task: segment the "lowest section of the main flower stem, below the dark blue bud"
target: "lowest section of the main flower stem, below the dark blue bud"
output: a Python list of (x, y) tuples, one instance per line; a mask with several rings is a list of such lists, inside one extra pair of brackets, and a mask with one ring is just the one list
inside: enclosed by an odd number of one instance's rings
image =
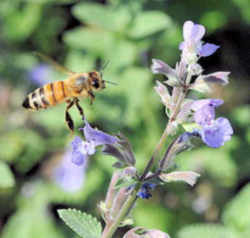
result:
[(120, 223), (123, 221), (123, 219), (126, 217), (128, 212), (130, 211), (131, 207), (134, 205), (134, 202), (137, 198), (136, 194), (140, 189), (140, 184), (137, 184), (133, 191), (131, 192), (130, 196), (127, 198), (126, 202), (122, 206), (122, 209), (118, 213), (118, 215), (115, 217), (115, 219), (110, 222), (109, 224), (106, 224), (104, 231), (102, 233), (101, 238), (111, 238), (117, 228), (119, 227)]

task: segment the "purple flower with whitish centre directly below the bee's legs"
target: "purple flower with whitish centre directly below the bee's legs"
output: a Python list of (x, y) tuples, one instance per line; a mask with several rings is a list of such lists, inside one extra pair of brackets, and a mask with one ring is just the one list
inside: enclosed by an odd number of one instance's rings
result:
[(118, 142), (116, 137), (93, 129), (86, 120), (84, 128), (80, 130), (83, 130), (85, 140), (76, 136), (72, 141), (72, 162), (76, 165), (83, 164), (89, 155), (93, 155), (96, 152), (96, 146)]

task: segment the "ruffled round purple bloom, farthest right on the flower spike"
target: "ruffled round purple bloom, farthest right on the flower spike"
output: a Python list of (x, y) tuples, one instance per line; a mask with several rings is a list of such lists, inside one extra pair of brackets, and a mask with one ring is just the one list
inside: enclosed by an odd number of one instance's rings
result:
[(209, 147), (218, 148), (231, 139), (233, 129), (228, 119), (219, 117), (210, 125), (204, 125), (200, 131), (203, 142)]

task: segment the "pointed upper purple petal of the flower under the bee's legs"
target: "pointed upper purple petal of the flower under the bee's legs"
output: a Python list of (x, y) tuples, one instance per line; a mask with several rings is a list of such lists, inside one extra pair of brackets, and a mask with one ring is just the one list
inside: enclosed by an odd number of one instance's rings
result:
[(88, 142), (94, 142), (95, 146), (114, 144), (118, 141), (115, 136), (93, 129), (86, 120), (85, 127), (83, 129), (80, 128), (80, 130), (83, 130), (86, 140)]

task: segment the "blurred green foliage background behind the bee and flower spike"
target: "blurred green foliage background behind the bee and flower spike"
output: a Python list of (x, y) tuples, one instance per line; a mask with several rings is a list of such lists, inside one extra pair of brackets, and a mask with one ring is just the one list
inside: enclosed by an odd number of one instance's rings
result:
[[(235, 134), (222, 148), (204, 146), (179, 156), (177, 168), (201, 173), (199, 182), (194, 188), (171, 184), (156, 189), (153, 198), (138, 202), (135, 224), (176, 238), (250, 237), (249, 0), (1, 0), (1, 237), (76, 237), (56, 209), (75, 207), (101, 219), (97, 203), (114, 170), (114, 159), (98, 153), (70, 180), (76, 183), (73, 191), (55, 180), (72, 140), (65, 105), (32, 113), (21, 104), (41, 80), (66, 76), (33, 51), (76, 72), (110, 61), (104, 79), (118, 86), (108, 85), (94, 105), (88, 100), (81, 105), (92, 125), (130, 139), (142, 169), (166, 123), (153, 90), (155, 79), (163, 78), (150, 72), (151, 59), (175, 65), (186, 20), (205, 25), (204, 40), (221, 46), (201, 64), (205, 73), (232, 72), (230, 84), (209, 96), (225, 100), (218, 115), (230, 119)], [(81, 126), (77, 111), (71, 114)]]

